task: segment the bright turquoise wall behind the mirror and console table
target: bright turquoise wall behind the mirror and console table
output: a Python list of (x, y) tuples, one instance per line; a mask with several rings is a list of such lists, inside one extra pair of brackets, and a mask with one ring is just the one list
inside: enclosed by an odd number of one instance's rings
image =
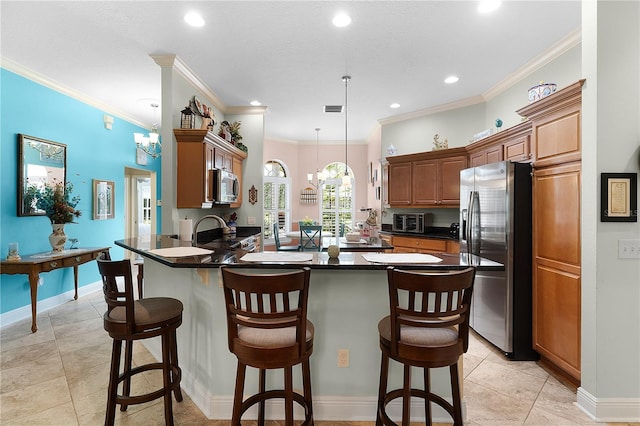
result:
[[(135, 163), (133, 133), (147, 131), (114, 117), (112, 130), (104, 127), (105, 111), (87, 105), (18, 74), (0, 69), (0, 256), (5, 259), (8, 243), (17, 241), (22, 255), (51, 250), (49, 220), (44, 216), (17, 216), (18, 134), (23, 133), (67, 145), (67, 180), (74, 195), (81, 197), (77, 208), (82, 216), (77, 224), (65, 227), (68, 237), (78, 238), (80, 246), (110, 246), (112, 257), (124, 256), (113, 241), (124, 238), (124, 169), (157, 172), (160, 188), (160, 158), (148, 158), (147, 166)], [(113, 114), (109, 114), (113, 115)], [(93, 220), (92, 179), (115, 182), (115, 218)], [(160, 209), (157, 209), (160, 214)], [(158, 218), (158, 226), (161, 223)], [(81, 265), (80, 287), (98, 282), (94, 262)], [(41, 275), (38, 300), (73, 289), (73, 269), (65, 268)], [(30, 305), (26, 275), (0, 275), (0, 313)]]

